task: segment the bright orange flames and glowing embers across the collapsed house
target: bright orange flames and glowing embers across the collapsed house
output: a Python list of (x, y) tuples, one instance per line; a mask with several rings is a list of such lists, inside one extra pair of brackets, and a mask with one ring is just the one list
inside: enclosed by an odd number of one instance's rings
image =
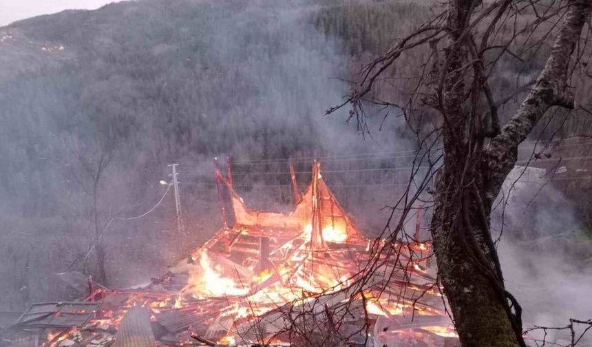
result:
[[(315, 169), (318, 171), (319, 167), (315, 166)], [(429, 253), (430, 244), (416, 241), (405, 244), (401, 241), (364, 238), (336, 202), (324, 181), (320, 180), (317, 171), (313, 174), (317, 185), (311, 185), (306, 190), (308, 193), (299, 197), (297, 207), (291, 213), (247, 209), (242, 198), (229, 185), (235, 209), (234, 227), (225, 225), (214, 238), (195, 250), (189, 261), (184, 260), (167, 273), (166, 277), (154, 282), (158, 286), (146, 287), (152, 292), (125, 293), (129, 296), (120, 304), (118, 311), (101, 311), (90, 323), (95, 324), (95, 328), (82, 328), (81, 331), (96, 335), (97, 330), (100, 330), (98, 334), (108, 334), (107, 330), (118, 329), (129, 308), (143, 304), (149, 308), (150, 319), (159, 323), (172, 324), (175, 319), (171, 317), (176, 318), (177, 315), (182, 319), (187, 314), (195, 315), (196, 319), (200, 319), (199, 327), (195, 328), (204, 328), (200, 334), (204, 331), (206, 334), (215, 332), (208, 338), (204, 336), (204, 339), (226, 346), (235, 345), (238, 337), (240, 344), (257, 342), (250, 341), (253, 337), (244, 333), (261, 322), (264, 322), (261, 330), (270, 330), (266, 336), (256, 338), (264, 339), (266, 344), (276, 339), (281, 343), (284, 336), (273, 335), (273, 330), (282, 331), (286, 328), (286, 318), (282, 316), (286, 312), (305, 313), (302, 315), (303, 319), (313, 315), (333, 322), (343, 320), (348, 326), (359, 322), (387, 322), (390, 325), (390, 330), (386, 324), (383, 328), (374, 330), (380, 331), (376, 336), (368, 334), (372, 339), (382, 338), (382, 335), (385, 338), (403, 336), (405, 339), (423, 339), (433, 337), (434, 334), (456, 337), (450, 324), (427, 327), (415, 324), (393, 328), (390, 322), (405, 324), (408, 320), (399, 317), (445, 317), (439, 306), (432, 306), (430, 301), (427, 301), (428, 304), (419, 301), (423, 296), (426, 300), (431, 299), (431, 302), (441, 301), (434, 300), (441, 294), (429, 286), (430, 266), (425, 252)], [(316, 212), (315, 208), (318, 209)], [(318, 223), (314, 224), (315, 228), (313, 221)], [(313, 229), (315, 242), (312, 242)], [(319, 236), (326, 244), (316, 242)], [(371, 251), (380, 247), (392, 247), (397, 252), (397, 263), (380, 252)], [(421, 256), (418, 257), (416, 253), (419, 251)], [(357, 286), (357, 276), (363, 273), (368, 262), (384, 263), (383, 266), (387, 274), (392, 275), (392, 280), (377, 271), (370, 273), (370, 282)], [(262, 268), (264, 269), (260, 271)], [(184, 281), (187, 272), (189, 280), (179, 291), (179, 286), (184, 284), (173, 280), (181, 273), (179, 278)], [(411, 277), (419, 277), (419, 282), (413, 282)], [(169, 283), (174, 286), (167, 286)], [(413, 298), (418, 297), (421, 291), (425, 292), (414, 301)], [(107, 292), (96, 293), (106, 295)], [(406, 293), (409, 293), (409, 297), (405, 297)], [(284, 310), (286, 307), (289, 309)], [(363, 308), (366, 311), (360, 312)], [(308, 310), (310, 312), (305, 312)], [(364, 320), (365, 316), (367, 320)], [(258, 322), (257, 319), (262, 321)], [(440, 321), (429, 322), (428, 324), (434, 324)], [(96, 328), (97, 324), (102, 327)], [(191, 335), (192, 328), (188, 329)], [(63, 335), (58, 335), (58, 331), (54, 335), (48, 335), (47, 340), (57, 340), (52, 346), (59, 344), (66, 337), (72, 339), (73, 331), (69, 330)], [(198, 339), (198, 330), (193, 333), (195, 335), (191, 336)], [(222, 335), (224, 336), (218, 339)], [(178, 336), (182, 334), (179, 333)], [(160, 346), (160, 342), (157, 344)], [(187, 344), (193, 344), (193, 341), (182, 341), (178, 346)]]

